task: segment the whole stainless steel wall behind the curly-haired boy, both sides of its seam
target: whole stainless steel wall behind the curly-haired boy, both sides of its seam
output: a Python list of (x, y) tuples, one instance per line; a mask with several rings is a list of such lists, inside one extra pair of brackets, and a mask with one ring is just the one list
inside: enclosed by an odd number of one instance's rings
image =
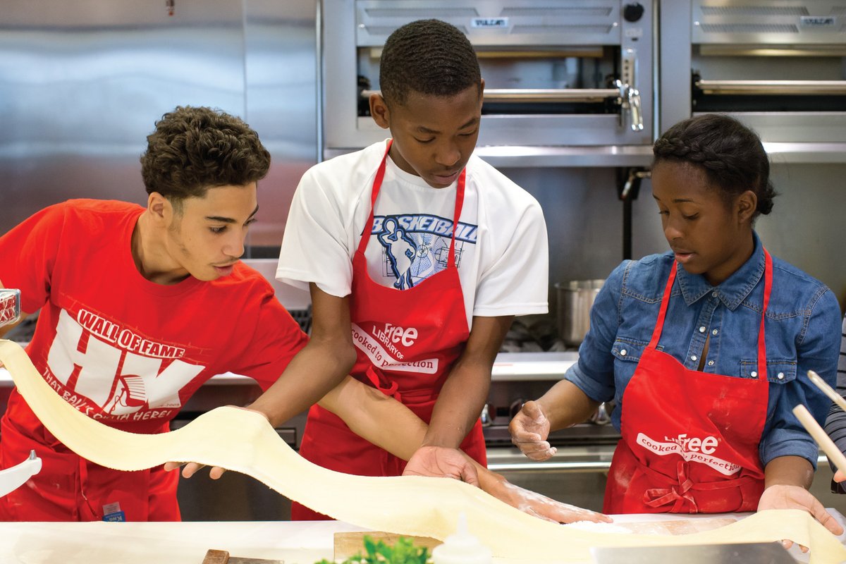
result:
[(0, 233), (58, 201), (143, 204), (139, 156), (162, 114), (217, 107), (272, 167), (249, 245), (277, 247), (317, 161), (316, 0), (12, 0), (0, 23)]

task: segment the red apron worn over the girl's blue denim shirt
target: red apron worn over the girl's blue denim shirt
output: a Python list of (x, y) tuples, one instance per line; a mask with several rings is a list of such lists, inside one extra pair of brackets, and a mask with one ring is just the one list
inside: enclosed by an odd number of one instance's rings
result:
[(611, 463), (603, 512), (757, 509), (764, 490), (758, 446), (769, 396), (764, 320), (772, 288), (772, 258), (766, 249), (764, 255), (764, 303), (753, 378), (688, 370), (656, 350), (676, 277), (673, 262), (651, 341), (623, 393), (622, 440)]

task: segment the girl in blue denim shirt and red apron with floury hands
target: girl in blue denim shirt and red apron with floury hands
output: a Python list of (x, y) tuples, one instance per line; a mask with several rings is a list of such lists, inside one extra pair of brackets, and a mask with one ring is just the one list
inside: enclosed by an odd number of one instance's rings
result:
[(674, 125), (653, 152), (652, 195), (669, 252), (626, 260), (591, 309), (579, 362), (511, 424), (514, 443), (551, 457), (550, 430), (617, 402), (622, 440), (606, 513), (801, 508), (842, 529), (807, 491), (818, 449), (792, 409), (817, 420), (834, 382), (837, 299), (771, 257), (753, 229), (775, 195), (761, 140), (726, 116)]

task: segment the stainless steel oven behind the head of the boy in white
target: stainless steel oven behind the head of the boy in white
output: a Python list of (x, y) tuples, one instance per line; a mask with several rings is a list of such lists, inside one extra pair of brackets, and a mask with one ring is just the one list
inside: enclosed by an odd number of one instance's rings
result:
[(651, 1), (323, 0), (324, 157), (382, 140), (367, 115), (387, 36), (415, 19), (464, 31), (485, 79), (480, 146), (645, 147)]

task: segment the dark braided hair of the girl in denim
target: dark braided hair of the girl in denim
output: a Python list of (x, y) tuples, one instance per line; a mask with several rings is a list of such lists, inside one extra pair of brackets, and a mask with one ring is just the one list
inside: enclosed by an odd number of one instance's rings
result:
[(772, 211), (776, 191), (770, 182), (770, 161), (761, 138), (734, 118), (706, 113), (678, 122), (655, 145), (652, 166), (659, 162), (687, 162), (705, 171), (726, 202), (752, 190), (758, 197), (756, 217)]

